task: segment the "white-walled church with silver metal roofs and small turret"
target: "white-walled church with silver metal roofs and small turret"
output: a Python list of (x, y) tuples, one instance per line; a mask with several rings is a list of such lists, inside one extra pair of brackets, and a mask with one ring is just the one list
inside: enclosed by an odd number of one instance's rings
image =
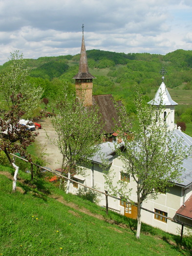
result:
[[(159, 102), (159, 95), (162, 95), (163, 102), (161, 103)], [(192, 138), (183, 133), (180, 128), (177, 128), (174, 124), (174, 106), (177, 105), (177, 103), (171, 98), (165, 86), (164, 77), (154, 99), (148, 103), (156, 106), (160, 104), (164, 105), (161, 119), (162, 122), (166, 121), (168, 130), (173, 131), (173, 140), (182, 137), (183, 147), (190, 147), (192, 145)], [(127, 188), (132, 189), (130, 200), (136, 202), (136, 183), (131, 175), (129, 177), (122, 176), (123, 164), (115, 154), (115, 144), (112, 142), (102, 143), (101, 152), (110, 164), (110, 168), (115, 172), (114, 183), (120, 179), (125, 180), (125, 182), (127, 182)], [(107, 191), (101, 164), (102, 159), (98, 154), (92, 159), (92, 167), (86, 169), (85, 177), (75, 175), (74, 180), (86, 186), (95, 187), (102, 192)], [(71, 183), (70, 192), (76, 194), (79, 187), (81, 186), (76, 182), (74, 182), (74, 184)], [(109, 208), (126, 217), (137, 217), (137, 207), (133, 204), (115, 200), (112, 197), (108, 198)], [(101, 194), (99, 205), (106, 205), (105, 195)], [(158, 227), (166, 232), (178, 234), (178, 230), (181, 230), (182, 226), (165, 217), (192, 225), (192, 156), (183, 161), (183, 171), (180, 181), (175, 182), (173, 187), (170, 187), (166, 193), (159, 194), (156, 199), (147, 199), (144, 201), (142, 207), (153, 212), (141, 210), (142, 222)], [(165, 217), (156, 215), (155, 213)]]

